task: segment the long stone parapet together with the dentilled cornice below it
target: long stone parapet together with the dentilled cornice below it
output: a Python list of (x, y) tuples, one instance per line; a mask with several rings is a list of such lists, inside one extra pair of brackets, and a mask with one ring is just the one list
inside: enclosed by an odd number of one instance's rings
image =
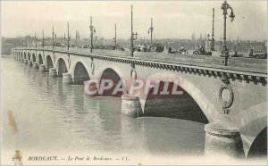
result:
[(130, 63), (151, 68), (159, 68), (170, 71), (182, 71), (194, 74), (202, 74), (213, 77), (227, 77), (229, 79), (242, 79), (254, 81), (255, 83), (267, 83), (267, 61), (264, 59), (253, 59), (244, 57), (230, 57), (228, 65), (224, 65), (224, 57), (201, 56), (196, 54), (163, 54), (135, 52), (130, 57), (128, 51), (95, 49), (90, 53), (88, 49), (65, 47), (23, 47), (13, 50), (25, 51), (47, 51), (77, 56), (88, 56), (90, 58), (103, 59), (105, 61)]

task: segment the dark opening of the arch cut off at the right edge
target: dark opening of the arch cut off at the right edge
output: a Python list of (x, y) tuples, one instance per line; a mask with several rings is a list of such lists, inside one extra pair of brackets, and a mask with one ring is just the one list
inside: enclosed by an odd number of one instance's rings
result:
[(267, 157), (267, 127), (255, 137), (253, 144), (250, 146), (247, 159), (255, 157)]

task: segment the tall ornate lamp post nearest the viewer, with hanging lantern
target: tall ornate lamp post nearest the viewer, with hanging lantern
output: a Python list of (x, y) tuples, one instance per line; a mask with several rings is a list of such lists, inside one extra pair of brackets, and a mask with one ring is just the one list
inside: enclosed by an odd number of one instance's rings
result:
[(222, 4), (222, 11), (223, 11), (223, 56), (225, 56), (225, 66), (227, 66), (228, 61), (228, 48), (226, 44), (226, 16), (228, 14), (228, 9), (230, 9), (230, 21), (232, 22), (235, 18), (235, 15), (233, 13), (233, 9), (230, 7), (230, 4), (228, 4), (226, 1)]

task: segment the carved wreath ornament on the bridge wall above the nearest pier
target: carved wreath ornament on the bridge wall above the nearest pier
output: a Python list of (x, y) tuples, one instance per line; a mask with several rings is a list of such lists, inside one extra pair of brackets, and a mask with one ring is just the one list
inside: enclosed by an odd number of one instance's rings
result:
[[(230, 113), (230, 106), (233, 104), (233, 99), (234, 99), (234, 94), (232, 91), (232, 88), (230, 87), (230, 79), (226, 75), (222, 75), (222, 86), (219, 88), (219, 100), (220, 103), (222, 104), (222, 111), (225, 114)], [(223, 90), (228, 90), (229, 91), (229, 100), (225, 101), (222, 99), (222, 92)]]

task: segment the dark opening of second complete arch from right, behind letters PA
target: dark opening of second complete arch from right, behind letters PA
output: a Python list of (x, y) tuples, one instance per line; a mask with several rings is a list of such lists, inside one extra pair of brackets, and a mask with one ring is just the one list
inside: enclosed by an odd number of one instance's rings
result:
[[(109, 89), (105, 89), (103, 94), (99, 94), (99, 95), (117, 96), (117, 97), (121, 97), (121, 95), (123, 95), (122, 91), (119, 91), (119, 92), (113, 94), (113, 91), (114, 91), (115, 87), (121, 81), (121, 77), (119, 76), (119, 74), (116, 71), (114, 71), (112, 68), (106, 68), (101, 74), (101, 77), (100, 77), (100, 80), (99, 80), (99, 85), (102, 84), (102, 81), (104, 79), (112, 80), (113, 81), (113, 87), (111, 87)], [(120, 88), (126, 89), (126, 85), (124, 84), (124, 82), (122, 82), (122, 85), (121, 85)], [(127, 89), (126, 89), (126, 93), (127, 93)]]

